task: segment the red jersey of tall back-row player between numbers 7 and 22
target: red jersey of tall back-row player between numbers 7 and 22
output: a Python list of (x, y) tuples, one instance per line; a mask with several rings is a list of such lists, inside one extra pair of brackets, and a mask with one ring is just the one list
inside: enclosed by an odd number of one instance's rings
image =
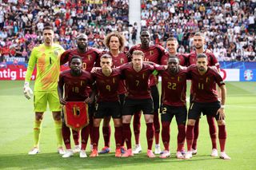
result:
[[(166, 49), (164, 49), (161, 45), (151, 45), (148, 49), (142, 49), (141, 44), (134, 45), (129, 50), (129, 56), (132, 55), (134, 50), (141, 50), (145, 57), (144, 61), (151, 61), (155, 64), (160, 64), (162, 57), (168, 56)], [(154, 77), (151, 75), (150, 77), (150, 86), (158, 84), (158, 77)]]

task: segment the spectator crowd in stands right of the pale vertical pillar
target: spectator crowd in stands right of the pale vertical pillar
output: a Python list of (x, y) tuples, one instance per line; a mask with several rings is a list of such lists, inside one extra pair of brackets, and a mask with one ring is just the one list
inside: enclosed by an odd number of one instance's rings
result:
[(155, 44), (178, 39), (180, 53), (190, 53), (195, 32), (218, 61), (256, 61), (256, 1), (141, 0), (141, 26)]

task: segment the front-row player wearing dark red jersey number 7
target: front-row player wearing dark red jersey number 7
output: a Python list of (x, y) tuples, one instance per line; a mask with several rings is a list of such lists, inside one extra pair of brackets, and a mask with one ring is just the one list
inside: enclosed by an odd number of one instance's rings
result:
[(146, 140), (148, 144), (147, 156), (154, 157), (152, 144), (154, 140), (154, 104), (148, 83), (153, 65), (143, 63), (144, 53), (135, 50), (132, 62), (122, 65), (120, 69), (126, 79), (127, 97), (122, 108), (122, 135), (126, 141), (127, 151), (122, 157), (133, 156), (131, 149), (130, 121), (134, 113), (143, 111), (146, 121)]

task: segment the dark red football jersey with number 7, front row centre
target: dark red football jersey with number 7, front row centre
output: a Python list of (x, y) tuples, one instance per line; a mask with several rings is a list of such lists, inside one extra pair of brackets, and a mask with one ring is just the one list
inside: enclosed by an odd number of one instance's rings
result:
[(132, 63), (120, 67), (126, 79), (127, 97), (130, 99), (151, 98), (149, 79), (154, 71), (153, 65), (143, 64), (142, 69), (136, 72)]

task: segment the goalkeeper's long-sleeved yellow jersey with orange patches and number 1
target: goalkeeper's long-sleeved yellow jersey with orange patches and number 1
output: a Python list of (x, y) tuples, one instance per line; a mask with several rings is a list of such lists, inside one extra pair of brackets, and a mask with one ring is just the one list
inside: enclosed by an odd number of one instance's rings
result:
[(60, 57), (64, 51), (65, 49), (58, 44), (51, 46), (42, 44), (32, 49), (25, 81), (30, 82), (34, 65), (37, 65), (37, 77), (34, 83), (34, 91), (57, 90), (58, 76), (60, 73)]

